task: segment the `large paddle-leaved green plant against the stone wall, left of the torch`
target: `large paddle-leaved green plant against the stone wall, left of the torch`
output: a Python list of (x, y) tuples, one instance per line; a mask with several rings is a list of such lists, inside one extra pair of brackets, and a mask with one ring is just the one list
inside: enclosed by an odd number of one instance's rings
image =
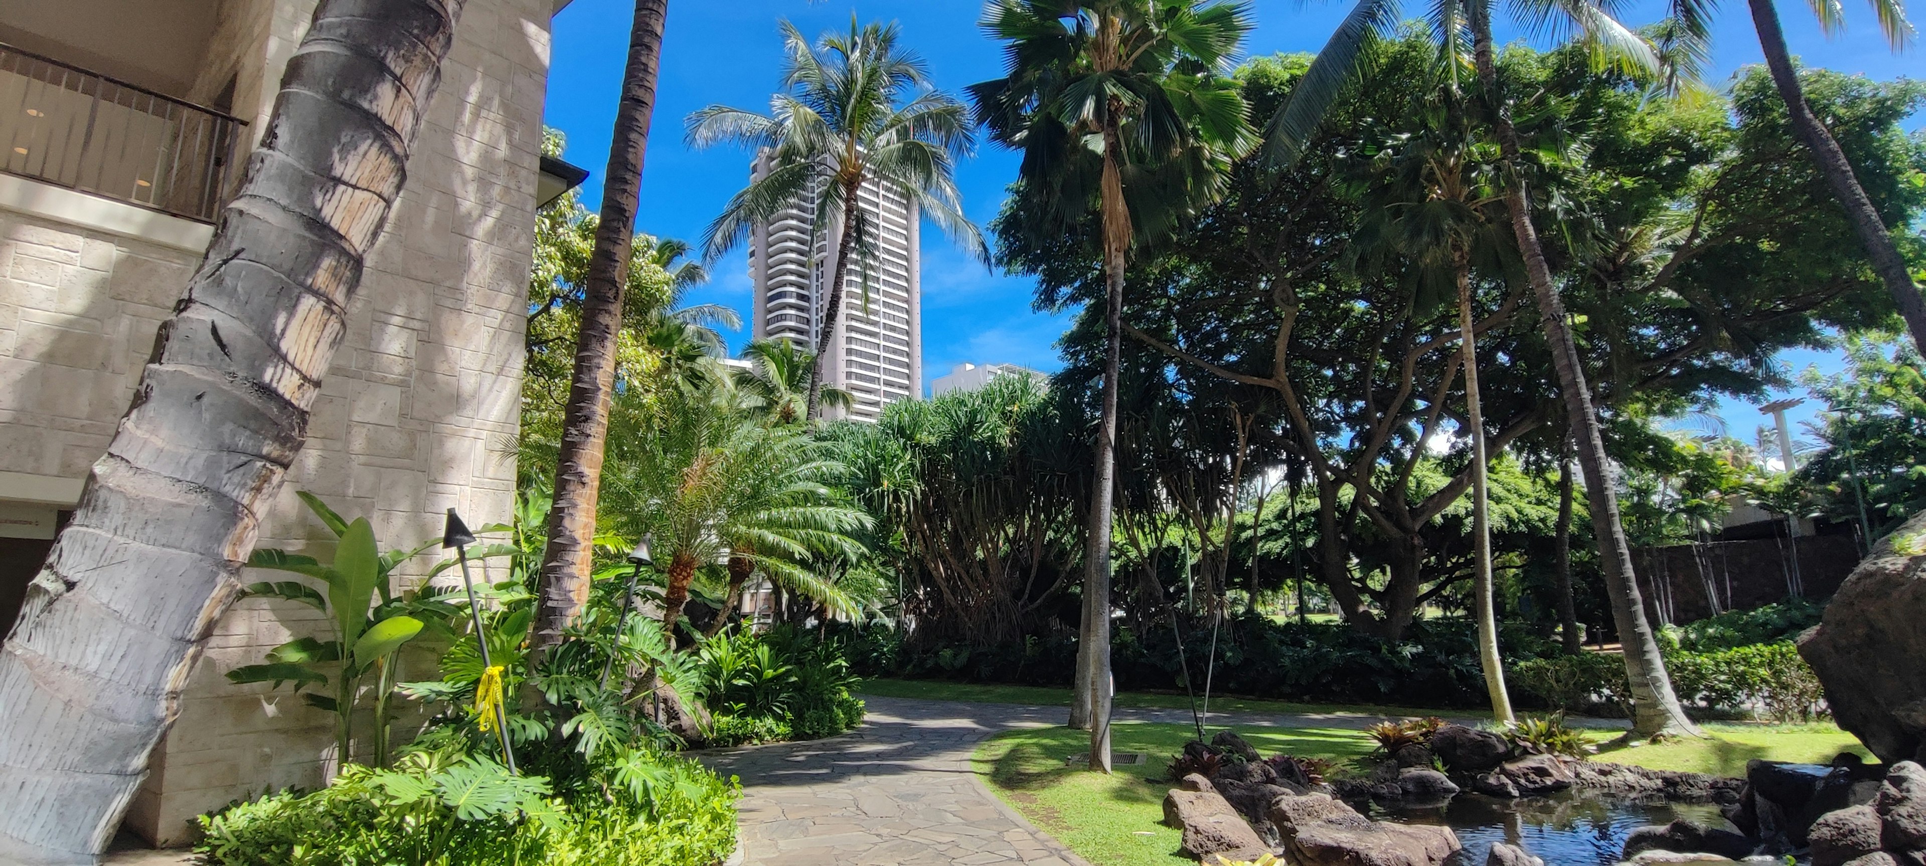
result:
[[(389, 573), (439, 539), (410, 550), (381, 552), (368, 518), (345, 522), (320, 498), (308, 493), (299, 497), (339, 539), (335, 560), (322, 564), (306, 554), (256, 548), (248, 566), (312, 577), (324, 589), (302, 581), (262, 581), (248, 585), (247, 597), (308, 604), (327, 614), (333, 639), (297, 637), (268, 650), (266, 662), (227, 672), (227, 679), (273, 683), (275, 689), (293, 683), (308, 706), (335, 714), (335, 756), (347, 764), (354, 741), (354, 704), (362, 679), (374, 675), (374, 758), (377, 766), (387, 766), (387, 700), (395, 693), (395, 652), (422, 633), (422, 620), (406, 614), (408, 604), (395, 597)], [(333, 677), (327, 670), (335, 672)], [(333, 685), (333, 695), (302, 693), (308, 685)]]

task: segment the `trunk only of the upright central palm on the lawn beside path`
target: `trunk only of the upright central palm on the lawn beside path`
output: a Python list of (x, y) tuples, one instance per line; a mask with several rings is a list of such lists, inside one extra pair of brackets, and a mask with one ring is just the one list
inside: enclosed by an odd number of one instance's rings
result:
[(1090, 535), (1084, 539), (1084, 645), (1090, 647), (1090, 770), (1109, 772), (1109, 522), (1117, 475), (1117, 375), (1123, 337), (1123, 273), (1131, 250), (1131, 212), (1123, 202), (1123, 106), (1109, 100), (1104, 123), (1104, 408), (1090, 481)]

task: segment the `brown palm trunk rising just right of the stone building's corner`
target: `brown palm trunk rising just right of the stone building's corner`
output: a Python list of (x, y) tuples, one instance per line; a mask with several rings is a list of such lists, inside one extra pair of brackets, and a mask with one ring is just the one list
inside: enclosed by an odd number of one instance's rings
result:
[[(609, 441), (609, 402), (614, 398), (616, 335), (622, 331), (622, 294), (628, 285), (636, 206), (641, 200), (641, 158), (649, 146), (655, 114), (655, 79), (663, 60), (663, 23), (668, 0), (636, 0), (628, 35), (622, 100), (614, 114), (614, 142), (603, 175), (601, 223), (589, 252), (576, 337), (576, 368), (568, 381), (562, 443), (555, 466), (555, 504), (549, 510), (549, 547), (541, 556), (535, 620), (530, 625), (530, 666), (541, 662), (562, 631), (589, 602), (595, 558), (595, 502), (601, 497), (603, 446)], [(530, 679), (534, 683), (534, 679)], [(524, 700), (530, 695), (524, 693)]]

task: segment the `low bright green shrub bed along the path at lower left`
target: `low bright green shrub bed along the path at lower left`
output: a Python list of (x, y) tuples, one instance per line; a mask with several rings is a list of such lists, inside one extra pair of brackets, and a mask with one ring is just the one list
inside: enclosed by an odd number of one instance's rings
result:
[(624, 752), (593, 787), (560, 793), (453, 751), (397, 764), (200, 816), (195, 853), (210, 866), (711, 866), (736, 845), (740, 785), (684, 758)]

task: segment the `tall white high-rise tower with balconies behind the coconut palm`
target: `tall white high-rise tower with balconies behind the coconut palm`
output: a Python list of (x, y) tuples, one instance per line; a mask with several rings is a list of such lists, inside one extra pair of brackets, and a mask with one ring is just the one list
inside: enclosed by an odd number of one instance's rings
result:
[[(767, 158), (749, 166), (751, 179), (761, 179), (765, 171)], [(886, 404), (923, 395), (921, 214), (915, 200), (876, 181), (863, 183), (857, 198), (876, 227), (876, 252), (867, 262), (869, 298), (865, 304), (865, 262), (849, 262), (842, 314), (822, 358), (822, 383), (855, 395), (855, 408), (826, 408), (822, 416), (874, 421)], [(828, 214), (817, 225), (811, 250), (813, 219), (813, 202), (799, 200), (749, 231), (755, 337), (788, 337), (811, 352), (822, 335), (842, 214)]]

